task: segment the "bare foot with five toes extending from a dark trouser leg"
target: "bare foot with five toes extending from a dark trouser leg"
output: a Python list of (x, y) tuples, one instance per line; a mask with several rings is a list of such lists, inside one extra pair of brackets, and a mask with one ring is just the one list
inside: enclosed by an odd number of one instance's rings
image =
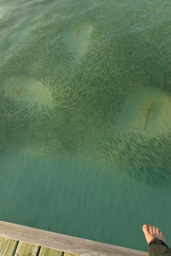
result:
[(144, 224), (142, 226), (142, 230), (144, 232), (147, 243), (149, 243), (153, 238), (158, 238), (166, 244), (166, 240), (162, 234), (162, 231), (160, 231), (158, 227)]

